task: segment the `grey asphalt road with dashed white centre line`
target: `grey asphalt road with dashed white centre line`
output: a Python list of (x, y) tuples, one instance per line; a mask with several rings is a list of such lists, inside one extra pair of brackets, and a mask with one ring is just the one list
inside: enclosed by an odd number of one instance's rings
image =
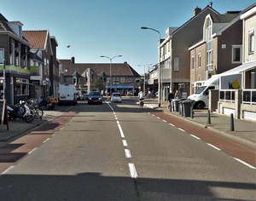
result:
[(6, 145), (14, 155), (0, 163), (6, 168), (0, 200), (256, 198), (255, 169), (232, 156), (233, 144), (223, 147), (218, 139), (218, 149), (197, 136), (200, 130), (139, 108), (136, 99), (80, 101), (61, 110), (51, 123)]

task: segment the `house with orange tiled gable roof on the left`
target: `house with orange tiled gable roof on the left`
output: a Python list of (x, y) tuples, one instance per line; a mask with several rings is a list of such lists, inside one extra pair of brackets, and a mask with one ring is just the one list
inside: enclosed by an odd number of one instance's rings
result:
[(23, 36), (31, 43), (30, 51), (38, 58), (30, 60), (32, 97), (57, 96), (59, 62), (56, 59), (56, 38), (49, 35), (49, 30), (23, 31)]

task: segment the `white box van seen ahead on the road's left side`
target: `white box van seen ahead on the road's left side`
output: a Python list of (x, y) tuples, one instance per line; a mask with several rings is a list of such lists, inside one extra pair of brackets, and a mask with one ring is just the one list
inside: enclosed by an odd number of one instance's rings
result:
[(70, 104), (76, 106), (78, 104), (77, 91), (74, 84), (59, 84), (58, 102), (59, 105)]

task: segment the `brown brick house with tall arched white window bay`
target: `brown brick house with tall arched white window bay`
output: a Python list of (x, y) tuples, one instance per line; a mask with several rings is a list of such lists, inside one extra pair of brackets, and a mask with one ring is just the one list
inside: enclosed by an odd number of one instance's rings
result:
[(218, 17), (207, 14), (202, 32), (201, 41), (189, 47), (191, 94), (212, 75), (242, 63), (242, 21), (239, 12), (219, 14)]

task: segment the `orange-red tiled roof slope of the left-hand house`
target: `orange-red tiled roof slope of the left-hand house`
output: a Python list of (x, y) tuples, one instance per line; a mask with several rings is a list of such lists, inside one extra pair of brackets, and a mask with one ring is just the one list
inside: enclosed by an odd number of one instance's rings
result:
[(23, 37), (26, 37), (29, 43), (32, 45), (32, 49), (45, 49), (46, 41), (49, 31), (22, 31)]

